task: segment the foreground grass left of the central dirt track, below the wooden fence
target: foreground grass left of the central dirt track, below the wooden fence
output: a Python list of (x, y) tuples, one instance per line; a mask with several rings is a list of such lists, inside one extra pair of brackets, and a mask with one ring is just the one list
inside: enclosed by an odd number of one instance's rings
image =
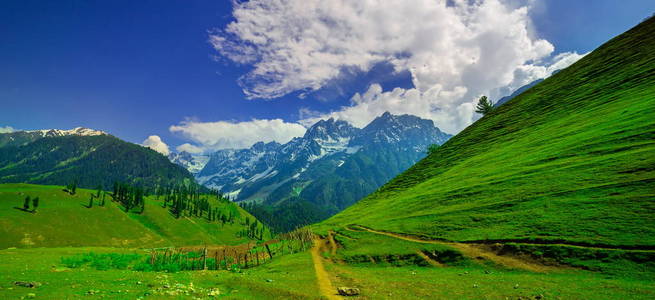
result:
[[(255, 269), (230, 271), (137, 272), (131, 269), (97, 270), (87, 264), (67, 268), (61, 257), (145, 255), (117, 248), (48, 248), (0, 250), (0, 299), (18, 299), (28, 293), (44, 299), (109, 298), (207, 299), (212, 289), (222, 299), (317, 299), (311, 284), (314, 272), (308, 253), (285, 255)], [(293, 270), (293, 272), (289, 272)], [(14, 281), (37, 281), (30, 289)], [(164, 286), (168, 286), (165, 288)], [(193, 286), (193, 290), (189, 287)], [(92, 295), (90, 295), (90, 291)], [(169, 294), (170, 293), (170, 294)]]

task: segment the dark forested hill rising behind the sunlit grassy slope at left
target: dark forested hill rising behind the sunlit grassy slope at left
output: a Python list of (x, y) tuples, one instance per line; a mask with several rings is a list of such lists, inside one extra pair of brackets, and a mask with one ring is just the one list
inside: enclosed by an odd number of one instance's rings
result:
[(111, 135), (38, 133), (0, 134), (1, 140), (21, 141), (0, 147), (0, 183), (66, 185), (77, 180), (80, 187), (109, 188), (116, 181), (147, 187), (193, 182), (187, 170), (165, 156)]

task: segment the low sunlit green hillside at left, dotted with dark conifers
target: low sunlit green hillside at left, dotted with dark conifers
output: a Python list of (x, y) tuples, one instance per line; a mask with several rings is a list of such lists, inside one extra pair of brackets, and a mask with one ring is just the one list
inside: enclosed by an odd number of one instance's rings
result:
[[(9, 247), (158, 247), (247, 242), (238, 232), (246, 228), (245, 217), (253, 217), (234, 203), (212, 200), (212, 207), (227, 214), (234, 224), (208, 222), (206, 218), (176, 219), (162, 201), (146, 199), (143, 214), (125, 213), (106, 197), (104, 207), (87, 208), (90, 193), (78, 189), (69, 195), (61, 186), (0, 184), (0, 249)], [(22, 211), (26, 196), (39, 197), (36, 213)], [(96, 200), (97, 203), (97, 200)]]

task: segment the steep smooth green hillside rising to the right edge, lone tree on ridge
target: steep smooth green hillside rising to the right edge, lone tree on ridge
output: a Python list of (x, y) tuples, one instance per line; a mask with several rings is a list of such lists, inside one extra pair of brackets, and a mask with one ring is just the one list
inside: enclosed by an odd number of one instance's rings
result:
[(655, 246), (655, 18), (316, 228)]

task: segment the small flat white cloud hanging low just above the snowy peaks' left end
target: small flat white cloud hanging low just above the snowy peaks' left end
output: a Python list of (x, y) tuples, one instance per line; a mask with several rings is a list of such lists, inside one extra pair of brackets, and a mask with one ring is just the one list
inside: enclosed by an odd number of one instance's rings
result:
[(305, 134), (305, 127), (298, 123), (287, 123), (281, 119), (252, 120), (248, 122), (197, 122), (184, 121), (169, 129), (192, 140), (196, 147), (205, 152), (218, 149), (248, 148), (254, 143), (286, 143), (294, 137)]

